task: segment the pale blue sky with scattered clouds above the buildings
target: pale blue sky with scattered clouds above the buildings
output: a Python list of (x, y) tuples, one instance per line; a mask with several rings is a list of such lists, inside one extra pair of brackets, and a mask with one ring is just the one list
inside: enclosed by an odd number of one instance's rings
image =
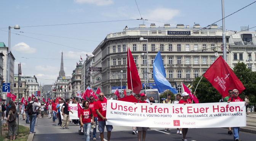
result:
[[(136, 5), (138, 4), (138, 8)], [(22, 75), (38, 78), (39, 83), (53, 84), (61, 67), (71, 76), (86, 54), (104, 40), (109, 33), (139, 27), (142, 20), (150, 27), (170, 24), (201, 27), (222, 19), (221, 0), (7, 0), (1, 1), (0, 42), (8, 46), (8, 27), (11, 28), (11, 52), (15, 57), (14, 73), (21, 63)], [(224, 0), (225, 16), (241, 9), (253, 0)], [(225, 19), (227, 30), (240, 31), (240, 27), (255, 26), (253, 16), (256, 3)], [(3, 12), (4, 11), (4, 12)], [(123, 21), (117, 21), (123, 20)], [(115, 22), (107, 22), (115, 21)], [(79, 24), (80, 23), (80, 24)], [(83, 24), (81, 24), (83, 23)], [(69, 25), (61, 25), (69, 24)], [(222, 21), (216, 23), (222, 26)], [(51, 26), (45, 26), (51, 25)], [(256, 28), (250, 29), (255, 31)], [(19, 35), (18, 35), (19, 34)]]

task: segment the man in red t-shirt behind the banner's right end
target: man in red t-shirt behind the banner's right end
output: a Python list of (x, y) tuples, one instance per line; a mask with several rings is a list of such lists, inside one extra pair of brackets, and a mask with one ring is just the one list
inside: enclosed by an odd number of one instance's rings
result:
[[(237, 89), (233, 90), (233, 96), (229, 98), (229, 100), (227, 100), (227, 103), (229, 102), (243, 102), (242, 97), (238, 96), (239, 92)], [(247, 103), (245, 102), (245, 106), (247, 105)], [(240, 131), (240, 127), (233, 127), (233, 131), (234, 131), (234, 141), (239, 141), (239, 136), (238, 133)]]

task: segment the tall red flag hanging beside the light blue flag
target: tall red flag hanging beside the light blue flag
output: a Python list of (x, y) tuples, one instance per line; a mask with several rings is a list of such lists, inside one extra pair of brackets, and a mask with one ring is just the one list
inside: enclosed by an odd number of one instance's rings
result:
[[(133, 55), (131, 55), (131, 51), (128, 47), (127, 50), (127, 84), (128, 84), (128, 89), (133, 89), (133, 93), (139, 94), (141, 91), (141, 80), (139, 78), (139, 73), (136, 67), (136, 64), (134, 63), (133, 60)], [(122, 87), (122, 86), (121, 86)]]

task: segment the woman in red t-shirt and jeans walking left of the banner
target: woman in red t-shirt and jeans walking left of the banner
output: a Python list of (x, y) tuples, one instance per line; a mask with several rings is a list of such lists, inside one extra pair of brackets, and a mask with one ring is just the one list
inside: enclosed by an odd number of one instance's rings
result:
[(93, 113), (91, 112), (91, 108), (89, 108), (88, 101), (83, 102), (83, 107), (85, 108), (83, 108), (80, 112), (80, 123), (83, 127), (83, 133), (85, 134), (85, 141), (90, 141), (91, 124), (94, 123), (94, 121), (91, 121), (91, 119), (94, 119), (94, 117)]

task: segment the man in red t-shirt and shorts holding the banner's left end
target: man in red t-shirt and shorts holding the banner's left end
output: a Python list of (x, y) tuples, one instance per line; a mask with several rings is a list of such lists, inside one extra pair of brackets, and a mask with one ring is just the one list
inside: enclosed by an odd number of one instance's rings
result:
[(107, 110), (107, 99), (104, 99), (103, 92), (99, 93), (99, 100), (96, 102), (94, 109), (96, 110), (96, 113), (98, 114), (98, 121), (99, 121), (99, 132), (101, 141), (104, 140), (104, 128), (106, 126), (107, 129), (107, 141), (110, 140), (111, 131), (113, 129), (112, 125), (106, 125), (106, 110)]

